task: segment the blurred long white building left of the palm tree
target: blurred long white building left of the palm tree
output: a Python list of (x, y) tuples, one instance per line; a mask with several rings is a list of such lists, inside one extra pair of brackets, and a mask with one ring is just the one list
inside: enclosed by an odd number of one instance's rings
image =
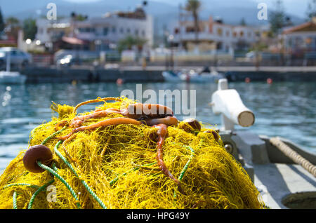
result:
[(145, 47), (153, 43), (152, 17), (139, 6), (131, 12), (105, 13), (103, 17), (75, 20), (37, 20), (36, 38), (59, 48), (108, 50), (126, 36), (145, 39)]

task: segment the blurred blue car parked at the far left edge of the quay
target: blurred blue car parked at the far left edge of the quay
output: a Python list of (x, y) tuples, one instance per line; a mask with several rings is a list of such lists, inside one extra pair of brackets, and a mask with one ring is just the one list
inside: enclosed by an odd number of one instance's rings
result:
[(1, 47), (0, 48), (0, 68), (6, 68), (6, 58), (10, 53), (11, 66), (27, 67), (32, 63), (32, 55), (14, 47)]

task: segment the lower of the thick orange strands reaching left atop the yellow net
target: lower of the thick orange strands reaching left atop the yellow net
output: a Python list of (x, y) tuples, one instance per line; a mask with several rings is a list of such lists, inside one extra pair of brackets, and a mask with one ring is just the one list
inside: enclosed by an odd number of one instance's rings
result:
[(74, 133), (78, 133), (84, 130), (93, 130), (100, 127), (106, 127), (106, 126), (116, 126), (121, 124), (132, 124), (139, 126), (141, 123), (140, 121), (136, 121), (135, 119), (129, 119), (129, 118), (113, 118), (113, 119), (105, 119), (103, 121), (99, 121), (97, 123), (91, 124), (90, 126), (81, 126), (79, 128), (74, 128), (71, 133), (68, 135), (58, 137), (58, 140), (67, 140), (70, 136), (72, 136)]

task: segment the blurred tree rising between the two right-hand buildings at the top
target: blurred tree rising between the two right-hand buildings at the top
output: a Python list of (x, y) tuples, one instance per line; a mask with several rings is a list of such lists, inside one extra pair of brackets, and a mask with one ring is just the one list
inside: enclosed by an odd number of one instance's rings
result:
[(280, 30), (285, 25), (285, 18), (283, 2), (277, 0), (275, 11), (270, 13), (270, 29), (272, 34), (279, 34)]

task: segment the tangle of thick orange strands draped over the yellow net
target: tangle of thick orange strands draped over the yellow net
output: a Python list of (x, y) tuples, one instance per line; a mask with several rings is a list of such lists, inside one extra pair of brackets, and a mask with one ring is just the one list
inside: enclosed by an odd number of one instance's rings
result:
[[(98, 102), (102, 100), (117, 100), (117, 99), (115, 97), (107, 97), (104, 99), (82, 102), (81, 104), (78, 104), (74, 108), (74, 112), (76, 112), (77, 108), (83, 104)], [(120, 114), (123, 117), (105, 119), (103, 121), (99, 121), (97, 123), (93, 123), (88, 126), (83, 126), (84, 122), (89, 119), (103, 118), (103, 117), (107, 117), (109, 114)], [(189, 126), (192, 126), (192, 128), (196, 128), (197, 121), (195, 121), (194, 123), (195, 125), (192, 125), (192, 120), (190, 122), (187, 122)], [(62, 123), (59, 123), (58, 125), (65, 125), (65, 124), (67, 123), (62, 122)], [(155, 132), (155, 135), (157, 136), (155, 140), (157, 141), (157, 156), (156, 157), (157, 157), (157, 163), (159, 165), (159, 168), (160, 170), (162, 170), (162, 173), (164, 173), (164, 175), (166, 175), (167, 177), (171, 178), (171, 180), (176, 182), (180, 193), (185, 194), (180, 187), (180, 181), (177, 180), (175, 177), (173, 177), (169, 169), (166, 167), (166, 164), (164, 163), (164, 158), (163, 158), (162, 147), (164, 144), (164, 140), (168, 136), (168, 126), (178, 126), (178, 119), (175, 116), (173, 116), (173, 111), (169, 107), (166, 107), (161, 104), (136, 103), (136, 104), (129, 104), (129, 106), (126, 107), (125, 109), (115, 109), (115, 108), (110, 108), (110, 109), (105, 109), (105, 110), (98, 109), (91, 114), (74, 117), (74, 119), (72, 119), (72, 121), (70, 121), (69, 123), (69, 127), (73, 128), (72, 131), (67, 135), (58, 137), (58, 140), (65, 141), (68, 138), (70, 138), (72, 135), (80, 131), (94, 130), (100, 127), (117, 126), (121, 124), (131, 124), (131, 125), (136, 125), (136, 126), (145, 124), (147, 126), (152, 126), (152, 128), (157, 129), (157, 131)], [(36, 149), (30, 148), (27, 151), (34, 152), (34, 150)], [(47, 151), (47, 149), (45, 151)], [(38, 155), (35, 154), (34, 156), (38, 156)], [(32, 160), (30, 161), (32, 165), (35, 165), (34, 160), (36, 160), (36, 157), (32, 158)], [(25, 162), (27, 163), (27, 159)]]

